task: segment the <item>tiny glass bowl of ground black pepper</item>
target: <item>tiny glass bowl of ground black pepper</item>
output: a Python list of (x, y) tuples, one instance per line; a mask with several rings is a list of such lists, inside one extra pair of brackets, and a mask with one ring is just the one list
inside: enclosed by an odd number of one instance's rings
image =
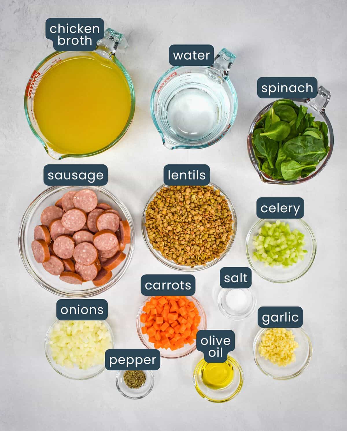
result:
[(116, 386), (123, 397), (139, 400), (151, 392), (154, 386), (154, 376), (151, 371), (118, 371)]

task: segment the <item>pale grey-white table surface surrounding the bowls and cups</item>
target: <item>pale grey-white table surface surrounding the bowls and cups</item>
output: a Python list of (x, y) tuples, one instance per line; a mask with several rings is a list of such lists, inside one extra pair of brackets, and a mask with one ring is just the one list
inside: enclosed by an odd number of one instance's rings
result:
[[(8, 1), (1, 7), (1, 300), (0, 429), (12, 430), (342, 430), (346, 429), (346, 12), (344, 1)], [(163, 359), (155, 387), (140, 401), (126, 400), (115, 386), (115, 372), (72, 381), (51, 369), (44, 336), (55, 318), (58, 297), (30, 278), (17, 246), (19, 222), (31, 200), (46, 186), (50, 159), (25, 119), (23, 95), (32, 70), (53, 51), (44, 36), (49, 17), (101, 17), (105, 26), (126, 34), (129, 49), (119, 56), (136, 90), (136, 112), (116, 147), (81, 163), (106, 163), (108, 190), (129, 208), (136, 223), (136, 249), (119, 284), (101, 295), (117, 347), (142, 347), (136, 312), (143, 301), (141, 275), (169, 273), (147, 250), (141, 214), (162, 183), (167, 163), (208, 163), (211, 181), (230, 196), (238, 231), (225, 259), (197, 272), (196, 297), (208, 328), (236, 333), (233, 356), (243, 367), (240, 394), (229, 403), (208, 403), (196, 393), (192, 370), (199, 352)], [(158, 77), (170, 66), (171, 44), (212, 44), (237, 54), (230, 77), (239, 110), (232, 130), (218, 144), (199, 151), (169, 151), (161, 144), (150, 116), (149, 98)], [(327, 114), (335, 148), (328, 166), (302, 185), (263, 184), (246, 150), (249, 124), (266, 100), (256, 94), (260, 76), (315, 76), (331, 91)], [(63, 163), (76, 163), (76, 159)], [(258, 306), (299, 305), (311, 336), (313, 356), (298, 378), (275, 381), (256, 367), (252, 341), (256, 313), (233, 323), (218, 310), (216, 291), (222, 266), (246, 266), (244, 241), (256, 220), (261, 196), (300, 196), (305, 220), (318, 250), (309, 272), (292, 283), (271, 284), (253, 274)]]

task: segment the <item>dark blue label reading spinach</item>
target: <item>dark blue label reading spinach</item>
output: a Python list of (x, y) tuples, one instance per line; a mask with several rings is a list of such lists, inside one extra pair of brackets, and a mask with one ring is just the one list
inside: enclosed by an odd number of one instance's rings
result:
[(313, 77), (262, 77), (257, 93), (262, 99), (306, 99), (317, 96), (318, 82)]

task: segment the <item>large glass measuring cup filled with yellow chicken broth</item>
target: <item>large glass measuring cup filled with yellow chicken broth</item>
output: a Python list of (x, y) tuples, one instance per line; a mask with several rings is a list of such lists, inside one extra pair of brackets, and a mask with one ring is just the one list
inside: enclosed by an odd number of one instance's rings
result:
[(108, 28), (94, 51), (56, 51), (32, 73), (25, 115), (54, 159), (101, 153), (125, 134), (135, 91), (115, 53), (127, 46), (123, 34)]

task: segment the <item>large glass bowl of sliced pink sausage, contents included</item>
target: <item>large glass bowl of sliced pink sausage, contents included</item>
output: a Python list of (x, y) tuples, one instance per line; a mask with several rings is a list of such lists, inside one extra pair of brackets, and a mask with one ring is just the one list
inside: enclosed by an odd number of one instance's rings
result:
[(26, 209), (19, 252), (32, 278), (63, 297), (91, 297), (129, 266), (135, 229), (126, 206), (103, 187), (55, 186)]

